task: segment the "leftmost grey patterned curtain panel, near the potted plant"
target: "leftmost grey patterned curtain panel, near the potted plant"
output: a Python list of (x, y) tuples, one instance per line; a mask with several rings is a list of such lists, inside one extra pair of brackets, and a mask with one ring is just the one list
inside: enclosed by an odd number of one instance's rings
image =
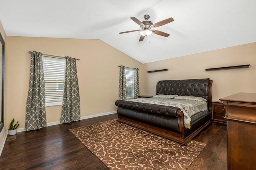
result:
[(26, 104), (25, 131), (46, 127), (45, 88), (42, 54), (31, 53), (30, 81)]

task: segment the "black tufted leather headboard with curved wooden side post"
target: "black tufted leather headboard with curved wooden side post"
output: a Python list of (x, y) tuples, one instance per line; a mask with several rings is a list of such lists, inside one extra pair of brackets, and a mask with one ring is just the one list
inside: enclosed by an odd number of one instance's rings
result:
[(156, 84), (156, 94), (174, 94), (182, 96), (197, 96), (207, 100), (208, 111), (212, 111), (212, 80), (161, 80)]

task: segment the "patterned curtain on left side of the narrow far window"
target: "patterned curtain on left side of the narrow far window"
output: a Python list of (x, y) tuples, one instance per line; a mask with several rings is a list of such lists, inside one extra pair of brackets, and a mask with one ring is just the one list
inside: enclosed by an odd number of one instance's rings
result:
[(120, 66), (119, 72), (119, 100), (126, 100), (126, 78), (125, 78), (125, 66)]

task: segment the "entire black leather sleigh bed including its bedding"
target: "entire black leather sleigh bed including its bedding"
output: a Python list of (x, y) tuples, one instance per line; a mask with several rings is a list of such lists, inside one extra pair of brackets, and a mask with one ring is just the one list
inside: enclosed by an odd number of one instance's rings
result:
[(161, 80), (152, 98), (117, 100), (118, 121), (186, 145), (212, 122), (211, 89), (210, 78)]

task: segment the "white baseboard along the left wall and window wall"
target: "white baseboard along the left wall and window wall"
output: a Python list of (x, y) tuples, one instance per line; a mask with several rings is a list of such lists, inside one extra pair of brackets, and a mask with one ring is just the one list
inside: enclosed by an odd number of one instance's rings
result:
[[(99, 117), (99, 116), (104, 116), (104, 115), (111, 115), (116, 113), (116, 111), (110, 111), (110, 112), (106, 112), (106, 113), (100, 113), (100, 114), (96, 114), (96, 115), (90, 115), (90, 116), (83, 116), (80, 118), (80, 120), (84, 120), (84, 119), (90, 119), (93, 117)], [(59, 125), (60, 121), (55, 121), (55, 122), (51, 122), (51, 123), (47, 123), (46, 126), (53, 126), (53, 125)], [(19, 128), (17, 129), (17, 133), (18, 132), (24, 132), (25, 128)], [(8, 131), (6, 131), (5, 135), (4, 135), (4, 139), (1, 141), (1, 145), (0, 145), (0, 156), (2, 153), (2, 150), (4, 149), (4, 143), (6, 141), (7, 135), (9, 135)]]

